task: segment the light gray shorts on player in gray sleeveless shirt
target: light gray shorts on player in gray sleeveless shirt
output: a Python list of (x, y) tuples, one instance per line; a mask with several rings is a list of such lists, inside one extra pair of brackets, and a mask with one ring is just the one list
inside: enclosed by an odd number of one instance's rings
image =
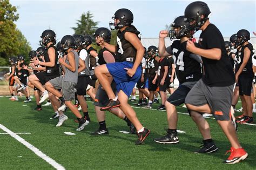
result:
[(75, 99), (75, 88), (76, 83), (64, 81), (63, 77), (56, 77), (49, 81), (55, 89), (62, 89), (62, 96), (65, 101), (70, 101)]

